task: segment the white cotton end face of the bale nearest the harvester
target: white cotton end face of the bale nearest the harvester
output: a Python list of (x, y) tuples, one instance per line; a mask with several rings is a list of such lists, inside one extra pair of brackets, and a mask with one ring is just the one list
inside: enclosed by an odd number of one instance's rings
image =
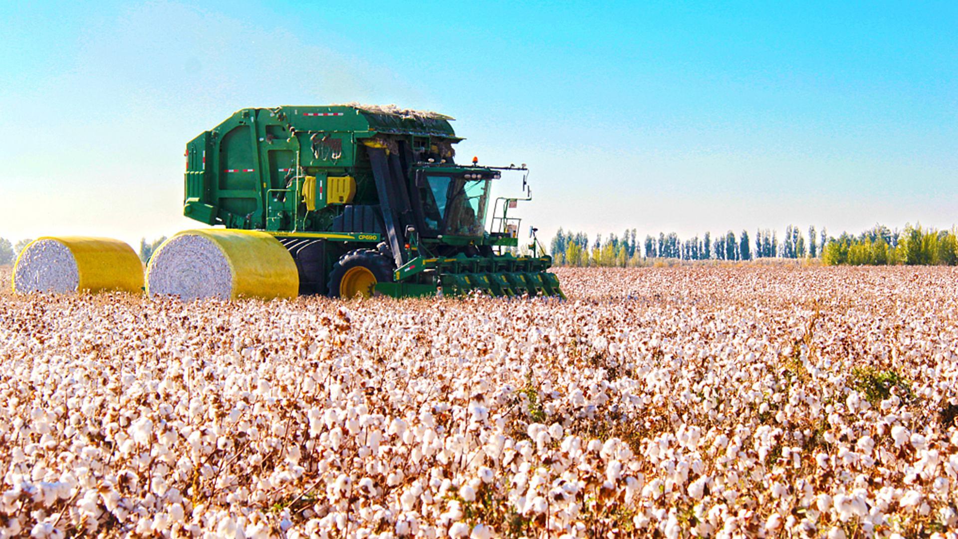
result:
[(233, 294), (233, 271), (216, 242), (197, 234), (180, 234), (150, 259), (147, 290), (150, 296), (174, 295), (184, 301), (226, 300)]

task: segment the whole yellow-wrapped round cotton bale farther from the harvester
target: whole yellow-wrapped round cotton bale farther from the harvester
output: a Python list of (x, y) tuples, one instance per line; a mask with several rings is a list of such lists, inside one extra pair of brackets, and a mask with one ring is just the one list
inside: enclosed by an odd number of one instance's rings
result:
[(20, 251), (14, 293), (143, 292), (143, 263), (111, 238), (45, 236)]

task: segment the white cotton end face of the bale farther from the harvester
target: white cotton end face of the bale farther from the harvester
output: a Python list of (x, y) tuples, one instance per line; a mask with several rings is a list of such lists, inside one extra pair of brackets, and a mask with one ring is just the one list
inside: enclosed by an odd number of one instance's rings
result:
[(15, 293), (71, 293), (80, 287), (80, 269), (70, 247), (57, 240), (26, 246), (13, 269)]

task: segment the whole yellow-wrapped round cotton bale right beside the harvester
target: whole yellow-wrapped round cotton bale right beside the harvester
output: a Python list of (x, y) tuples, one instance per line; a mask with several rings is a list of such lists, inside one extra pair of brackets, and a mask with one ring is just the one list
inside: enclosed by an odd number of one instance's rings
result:
[(295, 297), (299, 273), (285, 246), (253, 230), (185, 230), (149, 259), (147, 293), (185, 301)]

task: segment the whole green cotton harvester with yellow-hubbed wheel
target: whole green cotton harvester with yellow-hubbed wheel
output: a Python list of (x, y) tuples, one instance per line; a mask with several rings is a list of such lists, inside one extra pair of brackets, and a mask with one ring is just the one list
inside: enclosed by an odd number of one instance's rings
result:
[(275, 237), (302, 294), (561, 295), (535, 240), (533, 256), (510, 252), (516, 199), (490, 208), (490, 184), (525, 167), (456, 164), (449, 120), (378, 106), (241, 109), (187, 144), (184, 214)]

